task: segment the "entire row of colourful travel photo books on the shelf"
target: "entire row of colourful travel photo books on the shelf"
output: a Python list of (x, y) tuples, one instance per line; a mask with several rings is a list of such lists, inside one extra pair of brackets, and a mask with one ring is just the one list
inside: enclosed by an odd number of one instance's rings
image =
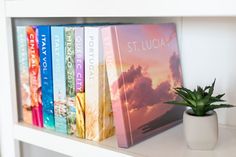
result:
[[(174, 24), (17, 26), (23, 120), (129, 147), (182, 120)], [(114, 122), (113, 123), (113, 114)]]

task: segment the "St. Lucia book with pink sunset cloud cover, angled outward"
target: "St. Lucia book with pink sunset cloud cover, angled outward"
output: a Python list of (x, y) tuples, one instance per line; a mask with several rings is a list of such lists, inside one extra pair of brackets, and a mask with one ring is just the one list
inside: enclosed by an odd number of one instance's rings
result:
[(175, 24), (102, 28), (119, 147), (129, 147), (182, 122), (182, 73)]

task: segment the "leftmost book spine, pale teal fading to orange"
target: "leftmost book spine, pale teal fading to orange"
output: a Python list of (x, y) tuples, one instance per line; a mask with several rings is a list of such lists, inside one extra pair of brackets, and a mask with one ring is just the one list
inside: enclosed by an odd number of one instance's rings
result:
[(16, 32), (23, 121), (32, 124), (26, 27), (18, 26)]

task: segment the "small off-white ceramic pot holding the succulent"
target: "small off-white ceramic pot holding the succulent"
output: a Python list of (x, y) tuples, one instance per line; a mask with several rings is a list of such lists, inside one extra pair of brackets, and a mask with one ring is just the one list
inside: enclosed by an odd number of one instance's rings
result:
[(206, 116), (194, 116), (192, 110), (184, 112), (183, 123), (186, 142), (191, 149), (211, 150), (218, 141), (218, 119), (215, 111)]

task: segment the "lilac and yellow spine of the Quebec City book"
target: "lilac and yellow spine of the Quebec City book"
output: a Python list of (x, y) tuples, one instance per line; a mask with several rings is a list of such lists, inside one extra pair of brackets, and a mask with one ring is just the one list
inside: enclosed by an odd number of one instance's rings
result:
[(75, 28), (76, 136), (85, 138), (84, 28)]

